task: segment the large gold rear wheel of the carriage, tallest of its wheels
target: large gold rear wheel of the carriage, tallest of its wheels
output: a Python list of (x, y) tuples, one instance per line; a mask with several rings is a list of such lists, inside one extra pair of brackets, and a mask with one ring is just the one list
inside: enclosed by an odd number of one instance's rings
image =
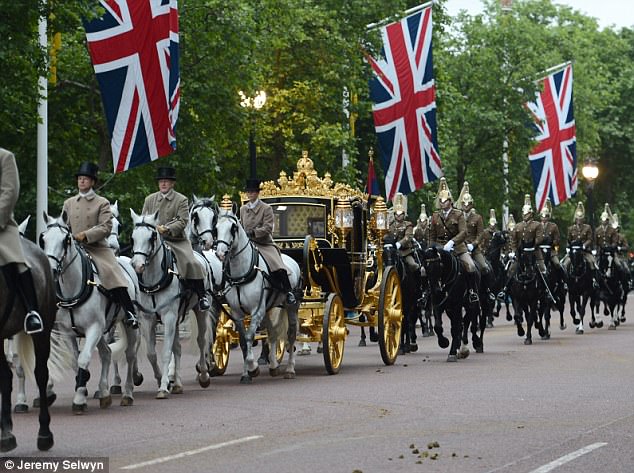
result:
[(383, 271), (379, 295), (379, 348), (386, 365), (393, 365), (398, 356), (403, 322), (401, 282), (393, 266)]

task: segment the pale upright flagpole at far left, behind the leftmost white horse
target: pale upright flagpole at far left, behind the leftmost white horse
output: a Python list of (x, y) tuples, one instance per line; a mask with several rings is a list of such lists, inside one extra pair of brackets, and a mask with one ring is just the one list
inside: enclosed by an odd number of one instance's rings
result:
[[(38, 23), (38, 37), (40, 48), (47, 52), (45, 57), (48, 58), (46, 28), (46, 16), (43, 14), (40, 16)], [(48, 64), (46, 66), (44, 70), (48, 71)], [(48, 212), (48, 78), (46, 77), (46, 72), (38, 78), (38, 89), (36, 235), (44, 231), (46, 222), (44, 222), (43, 213)]]

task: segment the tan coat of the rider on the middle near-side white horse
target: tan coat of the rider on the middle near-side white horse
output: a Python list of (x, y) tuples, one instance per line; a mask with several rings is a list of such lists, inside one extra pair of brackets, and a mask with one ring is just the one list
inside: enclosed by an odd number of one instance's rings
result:
[(203, 279), (203, 268), (196, 260), (192, 244), (185, 235), (185, 227), (189, 221), (187, 197), (174, 189), (165, 194), (150, 194), (145, 198), (141, 213), (146, 215), (156, 211), (159, 213), (159, 225), (167, 227), (163, 240), (174, 252), (178, 275), (183, 279)]

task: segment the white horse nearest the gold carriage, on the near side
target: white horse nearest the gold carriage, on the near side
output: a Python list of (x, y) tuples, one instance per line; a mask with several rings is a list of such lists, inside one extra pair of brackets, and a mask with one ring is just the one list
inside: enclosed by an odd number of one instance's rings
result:
[[(232, 318), (235, 319), (240, 332), (244, 367), (242, 370), (242, 384), (250, 384), (252, 378), (260, 372), (258, 363), (253, 356), (253, 340), (258, 327), (265, 321), (267, 313), (276, 307), (283, 307), (288, 320), (288, 352), (289, 359), (284, 377), (295, 377), (295, 338), (297, 334), (298, 304), (287, 304), (286, 294), (275, 289), (269, 277), (269, 270), (264, 258), (247, 237), (244, 228), (233, 212), (220, 210), (216, 226), (216, 255), (222, 261), (223, 280), (227, 284), (225, 298), (231, 307)], [(284, 264), (290, 270), (289, 281), (293, 291), (301, 290), (301, 274), (299, 265), (289, 256), (282, 255)], [(251, 315), (249, 328), (244, 328), (244, 317)], [(282, 320), (283, 318), (278, 318)], [(273, 326), (270, 318), (265, 323), (268, 330), (268, 343), (271, 355), (275, 353), (279, 330)], [(242, 342), (243, 341), (243, 342)], [(279, 363), (275, 356), (269, 356), (269, 373), (277, 376), (280, 372)]]

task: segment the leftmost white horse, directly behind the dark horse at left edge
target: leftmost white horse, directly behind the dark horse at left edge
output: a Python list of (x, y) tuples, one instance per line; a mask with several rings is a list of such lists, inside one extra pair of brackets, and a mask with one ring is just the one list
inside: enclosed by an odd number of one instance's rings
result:
[[(99, 276), (92, 268), (85, 250), (75, 242), (66, 224), (66, 214), (52, 218), (44, 212), (46, 230), (40, 235), (40, 247), (46, 253), (57, 284), (57, 328), (64, 334), (85, 337), (85, 343), (77, 357), (77, 378), (73, 397), (73, 412), (81, 414), (87, 408), (86, 383), (90, 378), (88, 364), (95, 348), (101, 359), (99, 379), (99, 404), (106, 408), (112, 404), (108, 389), (108, 372), (111, 350), (104, 334), (117, 320), (122, 320), (123, 310), (113, 305), (100, 290)], [(138, 280), (129, 263), (119, 260), (119, 265), (128, 281), (128, 293), (134, 300), (138, 292)], [(137, 332), (126, 327), (122, 332), (128, 371), (122, 406), (130, 406), (133, 397), (133, 367), (136, 358)], [(53, 349), (55, 345), (53, 345)]]

